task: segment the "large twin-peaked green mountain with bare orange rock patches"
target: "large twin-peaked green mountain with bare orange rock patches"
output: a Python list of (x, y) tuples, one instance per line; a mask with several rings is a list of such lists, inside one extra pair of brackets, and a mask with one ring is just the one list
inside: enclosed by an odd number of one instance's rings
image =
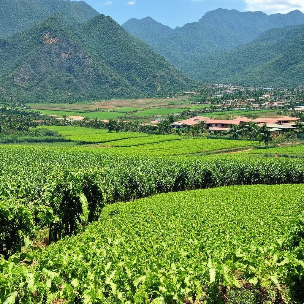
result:
[(68, 102), (136, 98), (191, 88), (195, 81), (98, 15), (70, 27), (61, 14), (0, 40), (0, 99)]

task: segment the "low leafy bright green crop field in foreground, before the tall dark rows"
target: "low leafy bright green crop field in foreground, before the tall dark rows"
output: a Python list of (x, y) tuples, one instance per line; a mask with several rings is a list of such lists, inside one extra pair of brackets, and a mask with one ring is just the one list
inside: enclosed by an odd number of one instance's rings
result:
[(76, 237), (23, 253), (29, 265), (18, 257), (16, 264), (1, 260), (4, 299), (258, 304), (284, 296), (291, 302), (296, 294), (278, 294), (277, 286), (299, 261), (301, 245), (284, 246), (302, 215), (303, 191), (303, 185), (230, 186), (106, 206), (101, 220)]

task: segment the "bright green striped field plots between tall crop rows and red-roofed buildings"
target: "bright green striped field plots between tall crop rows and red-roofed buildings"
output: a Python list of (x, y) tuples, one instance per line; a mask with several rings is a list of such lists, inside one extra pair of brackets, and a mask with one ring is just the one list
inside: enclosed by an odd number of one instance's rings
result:
[(133, 132), (108, 133), (107, 130), (102, 129), (66, 126), (47, 126), (46, 128), (55, 130), (61, 133), (65, 139), (78, 143), (102, 143), (99, 146), (102, 153), (117, 155), (188, 155), (233, 148), (242, 150), (257, 145), (257, 142), (250, 140), (206, 139)]

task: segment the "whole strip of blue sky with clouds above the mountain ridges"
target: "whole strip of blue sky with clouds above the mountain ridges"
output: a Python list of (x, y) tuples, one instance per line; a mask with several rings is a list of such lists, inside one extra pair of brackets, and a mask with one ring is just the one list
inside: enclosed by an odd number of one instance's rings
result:
[(218, 8), (239, 11), (261, 10), (267, 14), (304, 12), (304, 0), (84, 0), (98, 12), (111, 16), (119, 24), (130, 18), (152, 17), (172, 28), (198, 21), (206, 12)]

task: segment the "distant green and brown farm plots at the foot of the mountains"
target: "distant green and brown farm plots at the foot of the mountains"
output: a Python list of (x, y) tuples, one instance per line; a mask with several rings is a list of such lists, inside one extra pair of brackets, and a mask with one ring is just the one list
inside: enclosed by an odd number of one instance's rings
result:
[[(185, 98), (185, 97), (183, 97)], [(210, 105), (193, 105), (186, 99), (134, 99), (134, 100), (111, 100), (91, 103), (75, 103), (75, 104), (33, 104), (27, 106), (33, 110), (39, 110), (43, 115), (56, 115), (58, 117), (66, 116), (82, 116), (90, 119), (111, 119), (119, 116), (126, 116), (128, 119), (149, 120), (157, 116), (167, 116), (170, 114), (181, 113), (185, 109), (204, 110)], [(127, 114), (129, 112), (134, 112)], [(277, 111), (273, 110), (257, 110), (257, 111), (221, 111), (203, 114), (206, 117), (225, 118), (227, 116), (246, 116), (255, 114), (259, 117), (278, 117)]]

